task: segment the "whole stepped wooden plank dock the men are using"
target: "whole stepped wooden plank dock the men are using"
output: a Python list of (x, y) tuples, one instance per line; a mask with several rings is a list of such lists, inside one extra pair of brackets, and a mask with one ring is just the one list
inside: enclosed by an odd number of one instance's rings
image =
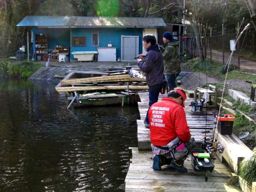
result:
[[(140, 93), (141, 102), (138, 103), (140, 117), (138, 124), (138, 148), (130, 148), (132, 158), (130, 167), (125, 178), (125, 191), (241, 191), (234, 185), (229, 185), (231, 173), (225, 164), (217, 158), (214, 162), (214, 170), (194, 171), (191, 165), (191, 157), (185, 161), (187, 173), (180, 173), (169, 169), (167, 165), (162, 166), (162, 171), (154, 171), (153, 154), (150, 147), (150, 132), (144, 126), (143, 120), (148, 110), (148, 93)], [(162, 96), (159, 97), (159, 100)], [(191, 113), (189, 98), (185, 103), (185, 111), (190, 131), (197, 142), (202, 142), (206, 136), (213, 135), (216, 119), (214, 111), (208, 110), (201, 114)], [(205, 178), (207, 182), (205, 181)]]

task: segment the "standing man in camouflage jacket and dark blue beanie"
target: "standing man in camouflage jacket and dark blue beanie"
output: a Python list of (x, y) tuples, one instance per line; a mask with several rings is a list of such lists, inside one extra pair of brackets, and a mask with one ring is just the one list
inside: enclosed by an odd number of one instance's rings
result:
[(164, 47), (160, 47), (163, 52), (164, 59), (164, 73), (166, 74), (167, 84), (169, 87), (168, 91), (173, 90), (177, 87), (177, 77), (180, 74), (180, 50), (178, 42), (172, 37), (169, 31), (166, 31), (163, 35)]

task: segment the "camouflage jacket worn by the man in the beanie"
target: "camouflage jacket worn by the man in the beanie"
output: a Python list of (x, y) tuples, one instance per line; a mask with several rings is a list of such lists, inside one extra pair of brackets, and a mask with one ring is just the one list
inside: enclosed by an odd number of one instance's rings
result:
[(164, 59), (164, 73), (179, 74), (180, 69), (180, 50), (178, 42), (169, 42), (166, 47), (160, 47), (163, 52)]

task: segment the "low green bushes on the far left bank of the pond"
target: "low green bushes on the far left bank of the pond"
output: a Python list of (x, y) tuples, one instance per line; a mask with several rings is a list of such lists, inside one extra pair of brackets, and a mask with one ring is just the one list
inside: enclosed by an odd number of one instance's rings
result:
[(41, 67), (42, 64), (33, 62), (7, 63), (8, 75), (19, 79), (27, 79)]

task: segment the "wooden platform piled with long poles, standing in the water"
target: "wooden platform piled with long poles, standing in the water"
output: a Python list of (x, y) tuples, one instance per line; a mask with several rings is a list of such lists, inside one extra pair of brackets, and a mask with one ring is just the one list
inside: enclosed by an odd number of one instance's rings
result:
[(69, 70), (55, 87), (66, 93), (67, 108), (81, 106), (134, 105), (139, 92), (148, 91), (146, 78), (130, 67), (106, 71)]

